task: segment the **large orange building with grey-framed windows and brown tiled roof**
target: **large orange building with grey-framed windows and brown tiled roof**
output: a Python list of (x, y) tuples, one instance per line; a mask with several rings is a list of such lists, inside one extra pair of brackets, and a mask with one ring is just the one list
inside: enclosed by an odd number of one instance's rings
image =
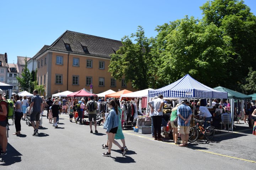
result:
[[(122, 46), (121, 41), (66, 31), (52, 45), (45, 45), (33, 58), (37, 80), (44, 85), (45, 96), (85, 88), (98, 94), (109, 89), (130, 90), (131, 83), (115, 80), (108, 72), (110, 55)], [(35, 68), (33, 68), (34, 70)]]

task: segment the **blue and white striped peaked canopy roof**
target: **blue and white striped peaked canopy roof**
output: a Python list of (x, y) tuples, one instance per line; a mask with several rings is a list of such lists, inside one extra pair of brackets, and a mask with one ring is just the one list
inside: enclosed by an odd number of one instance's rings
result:
[(148, 97), (162, 94), (164, 97), (186, 98), (228, 98), (227, 92), (214, 90), (185, 75), (178, 81), (156, 90), (149, 90)]

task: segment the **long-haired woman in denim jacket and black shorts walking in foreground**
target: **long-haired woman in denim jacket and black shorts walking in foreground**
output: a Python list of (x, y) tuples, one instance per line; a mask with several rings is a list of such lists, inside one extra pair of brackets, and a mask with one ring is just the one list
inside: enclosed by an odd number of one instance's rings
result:
[(108, 134), (108, 152), (102, 153), (104, 157), (111, 157), (111, 148), (112, 143), (114, 141), (114, 136), (117, 133), (118, 125), (119, 125), (119, 116), (118, 116), (118, 109), (117, 104), (114, 100), (109, 102), (111, 111), (108, 113), (106, 121), (104, 123), (103, 129), (106, 129), (106, 134)]

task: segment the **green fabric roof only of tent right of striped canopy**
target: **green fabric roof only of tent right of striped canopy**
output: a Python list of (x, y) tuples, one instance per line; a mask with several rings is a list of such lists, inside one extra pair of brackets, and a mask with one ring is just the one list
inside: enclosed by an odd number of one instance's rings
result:
[(222, 86), (218, 86), (218, 87), (215, 87), (213, 89), (218, 90), (218, 91), (228, 92), (228, 99), (252, 100), (252, 96), (248, 96), (248, 95), (239, 93), (237, 91), (227, 89), (227, 88), (222, 87)]

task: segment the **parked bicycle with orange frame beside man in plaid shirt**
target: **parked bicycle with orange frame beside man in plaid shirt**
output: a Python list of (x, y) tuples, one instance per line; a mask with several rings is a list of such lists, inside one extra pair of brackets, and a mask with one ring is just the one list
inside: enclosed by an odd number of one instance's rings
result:
[(199, 131), (204, 136), (204, 141), (205, 142), (209, 141), (209, 140), (212, 140), (212, 138), (215, 135), (214, 127), (213, 126), (208, 126), (204, 130), (203, 126), (200, 125), (200, 124), (204, 123), (204, 121), (203, 120), (197, 120), (195, 118), (193, 118), (193, 119), (195, 120), (195, 122), (197, 122), (197, 124), (195, 126), (193, 126), (192, 128), (190, 128), (190, 134), (189, 134), (189, 137), (188, 137), (188, 141), (190, 141), (191, 143), (196, 141), (199, 137)]

